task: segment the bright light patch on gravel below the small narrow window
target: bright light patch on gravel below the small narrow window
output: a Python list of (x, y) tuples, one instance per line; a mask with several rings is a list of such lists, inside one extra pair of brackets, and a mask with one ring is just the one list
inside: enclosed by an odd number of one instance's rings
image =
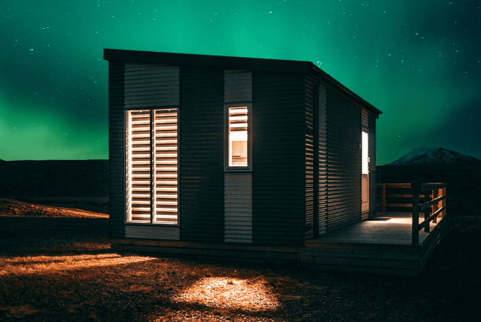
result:
[(186, 289), (177, 302), (198, 303), (216, 308), (248, 311), (273, 310), (279, 306), (264, 278), (237, 279), (205, 277)]

